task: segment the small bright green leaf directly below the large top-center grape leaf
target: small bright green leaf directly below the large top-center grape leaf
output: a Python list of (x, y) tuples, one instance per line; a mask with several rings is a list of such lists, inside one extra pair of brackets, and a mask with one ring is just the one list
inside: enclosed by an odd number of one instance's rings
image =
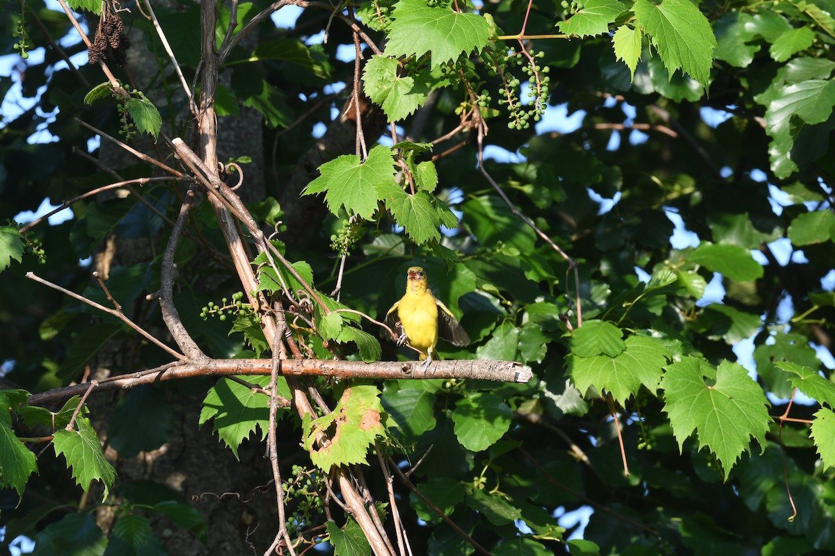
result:
[(372, 56), (362, 73), (368, 98), (382, 107), (389, 122), (407, 118), (429, 98), (429, 88), (419, 74), (398, 75), (397, 60)]

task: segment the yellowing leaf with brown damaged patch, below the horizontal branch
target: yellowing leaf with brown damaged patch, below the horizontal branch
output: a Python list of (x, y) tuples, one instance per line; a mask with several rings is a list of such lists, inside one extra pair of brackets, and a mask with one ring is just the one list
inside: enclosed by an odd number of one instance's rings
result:
[[(376, 386), (346, 388), (331, 413), (303, 423), (304, 447), (313, 464), (324, 471), (334, 465), (366, 463), (368, 448), (385, 434), (383, 418)], [(329, 442), (314, 447), (320, 434), (326, 434)]]

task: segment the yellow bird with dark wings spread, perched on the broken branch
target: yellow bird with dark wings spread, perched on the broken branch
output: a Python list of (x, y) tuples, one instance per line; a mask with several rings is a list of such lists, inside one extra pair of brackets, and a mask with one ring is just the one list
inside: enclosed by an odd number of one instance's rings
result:
[(426, 273), (420, 267), (407, 270), (406, 294), (388, 309), (386, 325), (392, 330), (402, 328), (397, 345), (408, 341), (420, 350), (421, 361), (426, 360), (424, 366), (438, 359), (438, 353), (435, 353), (438, 336), (456, 346), (469, 343), (469, 336), (455, 315), (433, 296)]

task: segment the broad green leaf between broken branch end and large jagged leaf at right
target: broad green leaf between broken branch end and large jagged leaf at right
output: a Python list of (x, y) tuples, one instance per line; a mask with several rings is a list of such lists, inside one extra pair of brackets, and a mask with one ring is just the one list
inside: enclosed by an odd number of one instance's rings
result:
[(641, 384), (655, 393), (661, 379), (661, 367), (667, 361), (663, 344), (655, 338), (630, 336), (625, 345), (625, 350), (614, 358), (569, 355), (569, 372), (574, 386), (580, 392), (590, 386), (606, 390), (618, 403), (624, 403), (638, 393)]

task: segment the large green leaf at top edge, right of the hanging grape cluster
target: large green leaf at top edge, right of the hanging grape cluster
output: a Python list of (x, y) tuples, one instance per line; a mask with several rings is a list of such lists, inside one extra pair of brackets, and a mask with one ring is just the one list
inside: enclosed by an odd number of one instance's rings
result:
[(672, 74), (681, 69), (707, 88), (716, 38), (711, 24), (689, 0), (637, 0), (632, 6), (640, 26)]

